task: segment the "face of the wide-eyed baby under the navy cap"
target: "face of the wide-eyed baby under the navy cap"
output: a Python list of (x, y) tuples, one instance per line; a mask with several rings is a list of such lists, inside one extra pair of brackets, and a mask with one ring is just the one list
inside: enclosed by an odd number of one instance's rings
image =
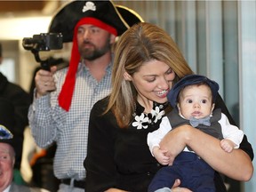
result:
[(192, 116), (199, 119), (211, 115), (214, 104), (210, 87), (205, 84), (185, 87), (180, 92), (178, 108), (180, 115), (186, 119)]

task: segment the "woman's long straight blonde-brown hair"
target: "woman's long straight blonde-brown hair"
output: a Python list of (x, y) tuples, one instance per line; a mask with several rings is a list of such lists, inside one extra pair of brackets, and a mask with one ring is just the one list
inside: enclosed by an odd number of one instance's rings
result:
[(105, 111), (112, 110), (121, 128), (131, 124), (138, 94), (132, 82), (124, 80), (124, 72), (132, 76), (149, 60), (160, 60), (169, 65), (176, 74), (174, 84), (193, 73), (177, 44), (164, 29), (147, 22), (129, 28), (116, 44), (112, 92)]

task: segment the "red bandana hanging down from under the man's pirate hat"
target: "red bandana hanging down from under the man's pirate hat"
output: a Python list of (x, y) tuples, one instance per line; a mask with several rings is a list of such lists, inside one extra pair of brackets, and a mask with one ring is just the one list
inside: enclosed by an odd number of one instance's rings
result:
[(76, 70), (81, 57), (80, 53), (78, 52), (76, 34), (77, 34), (78, 27), (84, 24), (92, 24), (98, 28), (105, 29), (109, 33), (117, 36), (116, 28), (113, 28), (108, 24), (102, 22), (101, 20), (98, 20), (95, 18), (91, 18), (91, 17), (82, 18), (76, 23), (76, 27), (74, 29), (74, 35), (73, 35), (73, 46), (71, 51), (71, 58), (69, 61), (68, 74), (66, 76), (64, 84), (62, 85), (62, 89), (59, 95), (59, 105), (61, 108), (63, 108), (66, 111), (69, 110), (71, 105), (71, 100), (72, 100), (72, 96), (73, 96), (73, 92), (76, 84)]

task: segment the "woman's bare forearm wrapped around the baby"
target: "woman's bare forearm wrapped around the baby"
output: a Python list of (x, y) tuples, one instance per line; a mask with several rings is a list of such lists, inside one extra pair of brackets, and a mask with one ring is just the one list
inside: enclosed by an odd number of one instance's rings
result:
[(220, 148), (220, 140), (192, 128), (190, 125), (182, 125), (172, 132), (168, 132), (160, 143), (160, 148), (167, 149), (169, 156), (174, 159), (186, 145), (217, 172), (235, 180), (251, 179), (253, 166), (250, 156), (241, 149), (234, 149), (231, 153), (226, 153)]

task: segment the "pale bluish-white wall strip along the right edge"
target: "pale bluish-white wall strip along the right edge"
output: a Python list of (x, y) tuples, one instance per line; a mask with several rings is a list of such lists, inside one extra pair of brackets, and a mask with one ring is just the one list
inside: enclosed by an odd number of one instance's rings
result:
[[(256, 2), (239, 2), (240, 119), (252, 148), (256, 148)], [(256, 154), (254, 154), (256, 155)], [(255, 157), (254, 157), (255, 159)], [(255, 167), (255, 160), (253, 161)], [(244, 183), (244, 191), (256, 191), (256, 175)]]

